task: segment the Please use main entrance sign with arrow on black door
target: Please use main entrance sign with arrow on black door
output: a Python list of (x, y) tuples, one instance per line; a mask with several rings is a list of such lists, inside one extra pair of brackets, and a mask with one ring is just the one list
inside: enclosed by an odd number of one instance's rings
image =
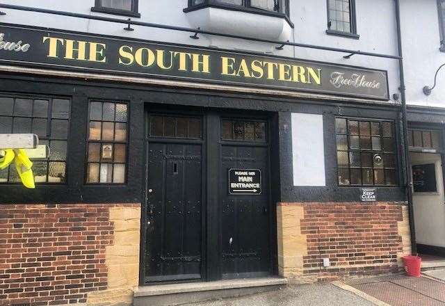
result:
[(261, 195), (261, 170), (229, 169), (230, 195)]

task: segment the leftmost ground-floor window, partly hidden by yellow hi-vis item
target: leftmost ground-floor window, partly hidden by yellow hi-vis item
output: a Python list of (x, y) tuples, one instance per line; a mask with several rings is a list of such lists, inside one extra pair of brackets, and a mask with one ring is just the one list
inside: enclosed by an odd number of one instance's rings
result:
[[(49, 156), (32, 159), (35, 183), (66, 182), (70, 100), (52, 97), (0, 95), (0, 134), (36, 134)], [(19, 183), (15, 166), (0, 170), (1, 183)]]

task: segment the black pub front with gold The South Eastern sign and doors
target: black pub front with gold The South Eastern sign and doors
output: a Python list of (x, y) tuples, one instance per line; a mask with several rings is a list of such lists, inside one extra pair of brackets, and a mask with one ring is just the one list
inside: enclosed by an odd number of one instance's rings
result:
[[(0, 202), (140, 203), (141, 284), (277, 275), (277, 202), (359, 201), (352, 179), (339, 188), (336, 118), (398, 120), (382, 70), (6, 24), (0, 33), (0, 133), (38, 134), (51, 150), (35, 161), (33, 191), (1, 173)], [(291, 113), (323, 116), (325, 186), (293, 184)], [(373, 184), (378, 201), (404, 198), (392, 138), (394, 180)]]

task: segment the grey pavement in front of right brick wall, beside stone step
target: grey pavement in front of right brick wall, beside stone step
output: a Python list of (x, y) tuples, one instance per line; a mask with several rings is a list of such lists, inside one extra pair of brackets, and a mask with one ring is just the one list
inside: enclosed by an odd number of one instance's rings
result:
[(184, 306), (374, 306), (334, 284), (288, 285), (284, 289)]

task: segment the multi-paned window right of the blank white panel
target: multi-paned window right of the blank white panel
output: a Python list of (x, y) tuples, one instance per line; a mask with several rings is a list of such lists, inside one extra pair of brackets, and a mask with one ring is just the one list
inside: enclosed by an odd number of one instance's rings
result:
[(393, 122), (337, 118), (335, 129), (339, 185), (398, 184)]

